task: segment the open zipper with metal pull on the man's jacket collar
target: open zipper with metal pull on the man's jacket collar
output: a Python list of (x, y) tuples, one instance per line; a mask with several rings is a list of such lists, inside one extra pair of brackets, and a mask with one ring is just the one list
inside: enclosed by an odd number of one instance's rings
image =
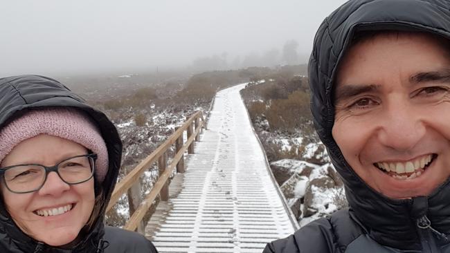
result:
[(448, 242), (449, 239), (445, 234), (431, 227), (431, 221), (426, 215), (417, 219), (417, 232), (419, 234), (420, 243), (422, 244), (422, 252), (424, 253), (438, 253), (440, 252), (438, 245), (436, 245), (435, 236), (439, 240)]

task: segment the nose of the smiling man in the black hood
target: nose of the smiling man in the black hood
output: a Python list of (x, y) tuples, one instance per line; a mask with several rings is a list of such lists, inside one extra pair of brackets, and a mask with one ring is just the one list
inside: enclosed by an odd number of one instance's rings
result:
[(378, 138), (386, 147), (398, 151), (413, 149), (426, 133), (423, 115), (420, 109), (407, 102), (390, 104), (384, 111)]

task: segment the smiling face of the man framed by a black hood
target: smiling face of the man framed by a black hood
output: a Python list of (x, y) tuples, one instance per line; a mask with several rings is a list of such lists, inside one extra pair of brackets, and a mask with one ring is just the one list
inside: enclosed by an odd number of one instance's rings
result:
[(345, 160), (390, 198), (426, 196), (450, 176), (450, 57), (422, 34), (354, 45), (336, 78), (332, 135)]

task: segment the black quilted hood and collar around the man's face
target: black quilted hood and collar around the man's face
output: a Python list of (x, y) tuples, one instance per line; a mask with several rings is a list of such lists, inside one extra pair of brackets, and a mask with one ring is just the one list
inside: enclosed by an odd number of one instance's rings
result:
[(345, 161), (332, 137), (332, 92), (336, 67), (355, 32), (364, 30), (422, 31), (450, 39), (448, 0), (352, 0), (327, 17), (318, 28), (309, 58), (309, 85), (314, 126), (341, 174), (354, 212), (372, 238), (404, 250), (420, 249), (417, 218), (426, 215), (431, 226), (450, 234), (450, 186), (447, 181), (431, 196), (408, 200), (387, 198), (366, 185)]

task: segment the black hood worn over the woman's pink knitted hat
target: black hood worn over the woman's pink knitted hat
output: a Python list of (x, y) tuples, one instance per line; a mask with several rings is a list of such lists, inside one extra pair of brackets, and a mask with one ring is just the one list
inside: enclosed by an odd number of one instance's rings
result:
[[(104, 113), (93, 109), (82, 97), (75, 95), (69, 88), (48, 77), (21, 75), (2, 78), (0, 79), (0, 94), (0, 129), (25, 111), (61, 106), (84, 111), (98, 125), (102, 138), (107, 145), (109, 168), (105, 180), (101, 183), (96, 181), (95, 184), (96, 194), (99, 192), (98, 189), (102, 189), (105, 202), (100, 209), (100, 214), (96, 217), (94, 225), (90, 231), (84, 232), (84, 239), (75, 248), (77, 248), (77, 252), (84, 252), (82, 249), (92, 247), (92, 244), (97, 245), (104, 233), (103, 220), (105, 209), (116, 185), (120, 169), (122, 142), (116, 127)], [(33, 252), (35, 250), (37, 241), (21, 232), (10, 218), (8, 212), (6, 212), (3, 202), (0, 202), (0, 221), (0, 249), (1, 243), (8, 243), (10, 247), (19, 247), (24, 252)], [(51, 252), (59, 251), (58, 249), (53, 249)], [(61, 252), (65, 251), (61, 250)]]

